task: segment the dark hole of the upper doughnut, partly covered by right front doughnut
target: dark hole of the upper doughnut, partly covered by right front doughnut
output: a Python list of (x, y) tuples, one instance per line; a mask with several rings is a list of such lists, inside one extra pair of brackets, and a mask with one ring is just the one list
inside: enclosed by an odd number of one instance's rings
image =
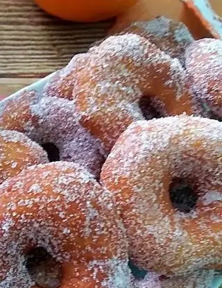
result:
[(146, 120), (160, 118), (160, 112), (153, 106), (151, 96), (143, 96), (139, 101), (139, 108)]

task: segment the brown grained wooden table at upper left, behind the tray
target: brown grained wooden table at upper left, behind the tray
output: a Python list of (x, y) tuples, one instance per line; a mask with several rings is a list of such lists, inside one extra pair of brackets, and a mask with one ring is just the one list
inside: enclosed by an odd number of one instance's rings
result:
[(104, 37), (110, 25), (63, 22), (46, 15), (33, 0), (0, 0), (0, 95), (65, 66)]

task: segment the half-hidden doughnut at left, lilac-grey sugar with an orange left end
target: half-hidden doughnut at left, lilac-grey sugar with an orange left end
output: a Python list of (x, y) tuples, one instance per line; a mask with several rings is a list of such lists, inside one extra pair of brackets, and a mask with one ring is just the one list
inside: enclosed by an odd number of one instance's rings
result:
[(58, 160), (83, 164), (99, 178), (106, 153), (101, 141), (90, 135), (79, 119), (74, 101), (35, 92), (24, 92), (0, 108), (0, 128), (22, 131), (41, 145), (54, 144)]

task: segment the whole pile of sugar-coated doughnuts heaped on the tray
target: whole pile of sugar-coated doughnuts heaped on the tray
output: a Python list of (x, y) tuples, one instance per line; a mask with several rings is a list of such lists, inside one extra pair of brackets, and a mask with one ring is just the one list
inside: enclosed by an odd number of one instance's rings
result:
[(221, 71), (221, 40), (158, 17), (0, 102), (0, 287), (211, 288)]

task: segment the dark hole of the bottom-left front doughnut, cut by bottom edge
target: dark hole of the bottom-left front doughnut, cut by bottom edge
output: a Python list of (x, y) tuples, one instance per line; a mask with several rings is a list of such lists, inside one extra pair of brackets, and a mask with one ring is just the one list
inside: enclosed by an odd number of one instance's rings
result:
[(26, 254), (26, 269), (35, 285), (40, 288), (58, 288), (62, 280), (62, 266), (42, 247)]

